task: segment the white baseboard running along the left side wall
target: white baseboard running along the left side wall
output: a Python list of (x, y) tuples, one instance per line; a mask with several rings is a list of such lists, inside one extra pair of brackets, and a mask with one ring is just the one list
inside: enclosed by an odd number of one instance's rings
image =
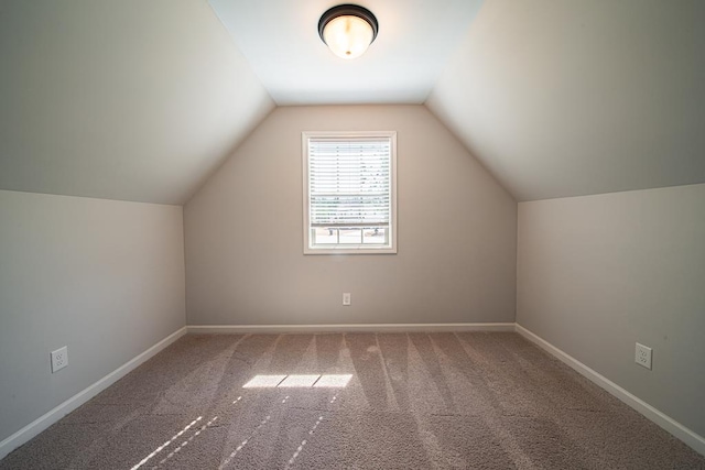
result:
[(51, 425), (53, 425), (54, 423), (56, 423), (57, 420), (59, 420), (61, 418), (63, 418), (64, 416), (66, 416), (77, 407), (79, 407), (80, 405), (83, 405), (84, 403), (88, 402), (90, 398), (93, 398), (94, 396), (96, 396), (97, 394), (99, 394), (100, 392), (102, 392), (113, 383), (116, 383), (118, 380), (122, 379), (129, 372), (137, 369), (140, 364), (151, 359), (153, 356), (155, 356), (158, 352), (165, 349), (167, 346), (176, 341), (182, 336), (186, 335), (186, 331), (187, 331), (186, 327), (183, 327), (180, 330), (173, 332), (172, 335), (167, 336), (156, 345), (152, 346), (147, 351), (142, 352), (141, 354), (137, 356), (129, 362), (122, 364), (115, 371), (110, 372), (108, 375), (104, 376), (98, 382), (78, 392), (76, 395), (72, 396), (61, 405), (56, 406), (54, 409), (45, 413), (44, 415), (40, 416), (29, 425), (24, 426), (22, 429), (14, 433), (12, 436), (2, 440), (0, 442), (0, 459), (4, 458), (8, 453), (10, 453), (11, 451), (17, 449), (24, 442), (29, 441), (34, 436), (39, 435), (41, 431), (43, 431), (44, 429), (46, 429), (47, 427), (50, 427)]

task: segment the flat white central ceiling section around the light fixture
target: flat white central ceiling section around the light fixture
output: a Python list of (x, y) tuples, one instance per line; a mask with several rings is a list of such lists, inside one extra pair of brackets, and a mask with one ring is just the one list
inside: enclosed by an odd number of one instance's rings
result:
[(423, 103), (482, 0), (361, 0), (378, 39), (355, 61), (318, 36), (335, 0), (209, 0), (280, 106)]

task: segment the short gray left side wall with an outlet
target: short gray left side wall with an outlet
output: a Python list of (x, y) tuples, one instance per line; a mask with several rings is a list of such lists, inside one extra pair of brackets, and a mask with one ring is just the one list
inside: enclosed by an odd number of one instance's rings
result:
[(181, 207), (0, 190), (0, 441), (184, 324)]

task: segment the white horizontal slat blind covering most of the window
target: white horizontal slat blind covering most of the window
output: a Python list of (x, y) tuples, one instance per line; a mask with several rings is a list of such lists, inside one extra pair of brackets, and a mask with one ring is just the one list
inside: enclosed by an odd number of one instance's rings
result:
[(389, 138), (308, 141), (311, 227), (383, 227), (391, 217)]

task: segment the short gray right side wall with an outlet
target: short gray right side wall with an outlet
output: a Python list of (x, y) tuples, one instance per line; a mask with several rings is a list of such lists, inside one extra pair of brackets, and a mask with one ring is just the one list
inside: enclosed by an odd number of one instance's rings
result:
[(521, 326), (705, 436), (705, 185), (521, 203), (518, 251)]

